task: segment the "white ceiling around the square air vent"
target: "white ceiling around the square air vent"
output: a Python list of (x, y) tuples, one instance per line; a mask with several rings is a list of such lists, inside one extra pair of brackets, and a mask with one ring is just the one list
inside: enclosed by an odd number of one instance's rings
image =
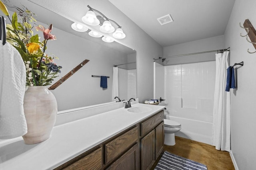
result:
[[(224, 35), (235, 0), (109, 0), (162, 47)], [(156, 20), (170, 14), (174, 20)]]

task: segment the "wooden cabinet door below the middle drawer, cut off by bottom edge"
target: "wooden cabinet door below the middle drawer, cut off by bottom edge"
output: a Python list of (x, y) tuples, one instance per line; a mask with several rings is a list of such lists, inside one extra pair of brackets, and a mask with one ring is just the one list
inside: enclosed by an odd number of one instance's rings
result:
[(138, 143), (125, 152), (107, 170), (138, 170)]

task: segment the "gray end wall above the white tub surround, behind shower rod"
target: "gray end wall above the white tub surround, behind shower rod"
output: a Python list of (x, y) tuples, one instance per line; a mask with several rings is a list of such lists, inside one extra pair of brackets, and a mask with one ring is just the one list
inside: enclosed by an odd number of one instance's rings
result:
[[(218, 49), (226, 49), (224, 46), (224, 36), (210, 37), (206, 39), (200, 39), (197, 41), (191, 41), (188, 43), (182, 43), (164, 47), (164, 57), (170, 57), (175, 55), (198, 53), (202, 51), (212, 51)], [(188, 64), (198, 63), (205, 61), (214, 61), (215, 53), (204, 53), (198, 55), (188, 55), (182, 57), (168, 58), (164, 61), (164, 65), (176, 65), (176, 64)], [(160, 60), (161, 61), (161, 60)]]

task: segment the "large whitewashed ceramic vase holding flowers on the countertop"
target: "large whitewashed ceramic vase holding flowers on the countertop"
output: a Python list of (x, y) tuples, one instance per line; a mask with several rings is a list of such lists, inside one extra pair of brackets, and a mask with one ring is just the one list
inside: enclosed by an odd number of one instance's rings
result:
[(24, 95), (24, 114), (28, 133), (23, 135), (25, 144), (35, 144), (50, 137), (56, 121), (57, 101), (46, 86), (29, 86)]

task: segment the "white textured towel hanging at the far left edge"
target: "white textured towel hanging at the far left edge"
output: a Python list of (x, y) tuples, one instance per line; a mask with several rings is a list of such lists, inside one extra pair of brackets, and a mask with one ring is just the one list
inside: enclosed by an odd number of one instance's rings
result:
[(23, 100), (26, 68), (20, 53), (8, 42), (0, 41), (0, 139), (27, 133)]

